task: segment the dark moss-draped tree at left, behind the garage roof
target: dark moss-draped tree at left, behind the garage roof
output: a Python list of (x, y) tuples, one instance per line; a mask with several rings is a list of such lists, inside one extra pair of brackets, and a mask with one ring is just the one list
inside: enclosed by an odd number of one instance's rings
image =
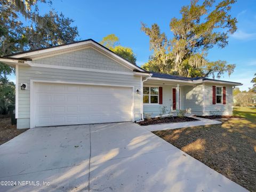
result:
[[(54, 11), (39, 15), (37, 3), (46, 0), (0, 1), (0, 55), (7, 55), (45, 46), (69, 43), (78, 36), (73, 20)], [(25, 26), (20, 18), (26, 18), (30, 26)], [(0, 77), (10, 75), (14, 69), (0, 63)]]

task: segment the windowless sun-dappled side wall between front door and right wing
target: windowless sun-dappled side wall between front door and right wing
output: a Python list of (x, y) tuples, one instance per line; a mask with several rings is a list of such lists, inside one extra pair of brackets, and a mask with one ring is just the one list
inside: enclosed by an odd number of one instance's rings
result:
[(183, 86), (183, 109), (189, 114), (203, 114), (203, 85)]

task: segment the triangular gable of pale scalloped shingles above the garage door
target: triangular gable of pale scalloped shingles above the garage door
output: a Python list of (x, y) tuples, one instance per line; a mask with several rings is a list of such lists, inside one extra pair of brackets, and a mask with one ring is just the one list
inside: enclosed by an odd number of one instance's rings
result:
[(108, 58), (106, 55), (103, 55), (92, 48), (37, 59), (34, 61), (34, 63), (131, 72), (130, 69), (122, 66), (118, 62)]

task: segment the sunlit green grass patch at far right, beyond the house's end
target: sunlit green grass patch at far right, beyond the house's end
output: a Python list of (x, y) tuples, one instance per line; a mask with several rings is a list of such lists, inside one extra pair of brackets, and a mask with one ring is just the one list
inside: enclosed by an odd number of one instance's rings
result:
[(256, 124), (256, 108), (236, 107), (233, 110), (233, 115), (246, 118)]

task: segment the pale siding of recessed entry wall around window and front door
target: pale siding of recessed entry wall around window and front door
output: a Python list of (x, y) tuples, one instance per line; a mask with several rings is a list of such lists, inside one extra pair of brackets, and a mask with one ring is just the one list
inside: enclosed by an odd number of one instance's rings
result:
[[(150, 86), (150, 84), (144, 84), (145, 86)], [(151, 86), (161, 86), (163, 87), (163, 104), (143, 104), (143, 113), (145, 114), (150, 114), (151, 117), (158, 116), (162, 114), (162, 107), (166, 106), (166, 113), (165, 114), (170, 114), (171, 109), (172, 109), (172, 89), (176, 88), (175, 86), (172, 85), (163, 85), (163, 84), (154, 84)], [(182, 103), (182, 98), (183, 98), (183, 86), (180, 86), (180, 109), (183, 109), (183, 103)]]

